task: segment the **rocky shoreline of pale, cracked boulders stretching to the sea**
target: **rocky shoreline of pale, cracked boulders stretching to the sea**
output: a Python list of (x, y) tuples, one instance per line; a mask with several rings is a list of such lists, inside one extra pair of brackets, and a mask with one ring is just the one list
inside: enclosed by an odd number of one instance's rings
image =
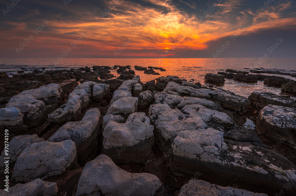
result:
[[(242, 97), (170, 75), (142, 83), (130, 66), (92, 70), (0, 73), (10, 195), (296, 195), (296, 102), (289, 96)], [(229, 78), (296, 93), (294, 80), (278, 76), (205, 76), (213, 84)]]

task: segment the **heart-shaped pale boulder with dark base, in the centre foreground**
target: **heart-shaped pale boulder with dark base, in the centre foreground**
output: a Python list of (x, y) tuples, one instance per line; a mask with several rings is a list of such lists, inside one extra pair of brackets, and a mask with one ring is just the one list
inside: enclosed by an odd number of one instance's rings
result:
[(109, 121), (104, 129), (103, 154), (115, 163), (142, 163), (152, 158), (153, 125), (145, 113), (129, 115), (126, 123)]

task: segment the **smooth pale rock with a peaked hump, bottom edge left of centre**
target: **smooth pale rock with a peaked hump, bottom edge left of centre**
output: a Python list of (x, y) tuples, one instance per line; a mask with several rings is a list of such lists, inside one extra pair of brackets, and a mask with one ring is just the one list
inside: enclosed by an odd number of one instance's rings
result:
[[(120, 176), (120, 177), (119, 177)], [(162, 196), (163, 183), (150, 173), (129, 173), (115, 165), (106, 155), (86, 163), (77, 186), (82, 195)]]

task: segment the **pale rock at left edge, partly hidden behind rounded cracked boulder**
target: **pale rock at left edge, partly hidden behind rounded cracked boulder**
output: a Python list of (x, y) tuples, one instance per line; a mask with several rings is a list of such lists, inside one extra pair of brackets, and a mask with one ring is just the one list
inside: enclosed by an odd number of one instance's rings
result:
[(39, 138), (36, 134), (34, 135), (20, 135), (15, 136), (9, 142), (9, 152), (8, 155), (5, 155), (5, 149), (2, 151), (0, 156), (0, 167), (5, 167), (5, 159), (4, 157), (9, 157), (9, 167), (13, 167), (15, 161), (17, 160), (18, 156), (22, 153), (22, 151), (30, 144), (38, 143), (44, 141), (43, 138)]

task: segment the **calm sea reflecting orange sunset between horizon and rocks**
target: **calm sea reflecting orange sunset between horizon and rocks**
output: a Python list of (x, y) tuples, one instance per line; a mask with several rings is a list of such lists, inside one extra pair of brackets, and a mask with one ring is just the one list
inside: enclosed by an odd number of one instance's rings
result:
[[(53, 60), (56, 59), (0, 59), (0, 71), (7, 72), (7, 74), (15, 74), (21, 68), (25, 68), (25, 72), (33, 71), (34, 69), (41, 69), (45, 67), (50, 69), (70, 69), (88, 66), (92, 68), (93, 65), (114, 66), (114, 65), (131, 65), (134, 70), (135, 65), (142, 67), (155, 66), (166, 69), (159, 72), (160, 75), (147, 75), (144, 71), (136, 71), (136, 75), (140, 75), (142, 82), (158, 78), (166, 75), (177, 75), (180, 78), (187, 80), (194, 79), (195, 82), (206, 84), (204, 81), (205, 74), (217, 73), (218, 71), (225, 71), (226, 69), (248, 71), (254, 68), (264, 68), (266, 70), (275, 70), (287, 73), (296, 74), (296, 59), (266, 59), (258, 64), (257, 59), (251, 58), (192, 58), (192, 59), (86, 59), (86, 58), (65, 58), (59, 65), (54, 65)], [(118, 76), (116, 70), (111, 70), (111, 73)], [(264, 74), (272, 75), (272, 74)], [(285, 78), (294, 79), (288, 75), (278, 75)], [(207, 84), (206, 84), (207, 85)], [(258, 92), (272, 92), (281, 94), (280, 88), (269, 87), (263, 84), (263, 81), (258, 83), (244, 83), (226, 79), (224, 85), (219, 86), (223, 89), (233, 91), (235, 94), (248, 97), (253, 91)], [(218, 88), (218, 86), (214, 86)], [(296, 99), (296, 97), (292, 97)]]

